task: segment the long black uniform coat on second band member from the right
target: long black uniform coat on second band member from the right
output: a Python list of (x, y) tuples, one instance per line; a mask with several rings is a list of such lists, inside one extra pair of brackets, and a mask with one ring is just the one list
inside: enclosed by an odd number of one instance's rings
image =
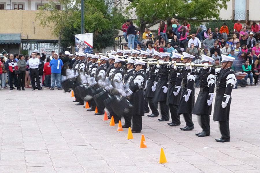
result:
[(208, 106), (207, 100), (209, 100), (209, 93), (214, 93), (215, 88), (215, 69), (209, 67), (207, 69), (201, 68), (197, 73), (198, 80), (200, 82), (200, 93), (196, 100), (196, 104), (193, 108), (192, 114), (211, 115), (211, 107)]

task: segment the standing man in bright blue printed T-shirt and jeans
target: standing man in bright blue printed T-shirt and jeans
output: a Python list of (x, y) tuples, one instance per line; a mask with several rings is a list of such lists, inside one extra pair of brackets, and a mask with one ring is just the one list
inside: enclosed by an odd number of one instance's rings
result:
[(62, 90), (60, 84), (60, 74), (61, 74), (61, 69), (63, 67), (63, 62), (61, 59), (58, 59), (57, 53), (54, 53), (54, 59), (51, 60), (50, 66), (51, 66), (51, 89), (50, 90), (54, 90), (55, 81), (58, 90)]

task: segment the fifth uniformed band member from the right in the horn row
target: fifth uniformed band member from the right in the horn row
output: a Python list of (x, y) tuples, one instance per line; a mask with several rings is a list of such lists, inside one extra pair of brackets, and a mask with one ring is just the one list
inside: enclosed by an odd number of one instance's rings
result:
[[(161, 52), (161, 60), (168, 62), (170, 60), (170, 53)], [(168, 75), (170, 73), (169, 65), (160, 65), (155, 82), (158, 82), (154, 94), (154, 102), (160, 102), (161, 119), (159, 121), (169, 121), (169, 106), (166, 105), (166, 97), (168, 90)]]

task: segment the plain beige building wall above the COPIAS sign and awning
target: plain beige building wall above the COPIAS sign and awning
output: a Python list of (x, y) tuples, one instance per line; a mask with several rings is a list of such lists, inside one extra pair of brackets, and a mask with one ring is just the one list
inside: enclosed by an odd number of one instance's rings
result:
[[(58, 40), (49, 27), (42, 27), (36, 20), (37, 10), (0, 10), (0, 33), (20, 33), (22, 40)], [(8, 25), (8, 23), (12, 25)], [(13, 24), (16, 24), (14, 27)]]

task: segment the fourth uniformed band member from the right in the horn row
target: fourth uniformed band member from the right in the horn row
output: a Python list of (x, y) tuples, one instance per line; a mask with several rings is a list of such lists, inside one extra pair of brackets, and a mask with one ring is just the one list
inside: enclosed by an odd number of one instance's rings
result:
[[(172, 52), (172, 61), (179, 63), (181, 61), (181, 54)], [(168, 123), (170, 126), (178, 126), (181, 124), (180, 115), (178, 114), (178, 106), (181, 97), (181, 81), (182, 74), (177, 73), (174, 70), (174, 65), (172, 64), (170, 69), (170, 74), (168, 76), (168, 91), (166, 97), (166, 104), (169, 105), (172, 122)]]

